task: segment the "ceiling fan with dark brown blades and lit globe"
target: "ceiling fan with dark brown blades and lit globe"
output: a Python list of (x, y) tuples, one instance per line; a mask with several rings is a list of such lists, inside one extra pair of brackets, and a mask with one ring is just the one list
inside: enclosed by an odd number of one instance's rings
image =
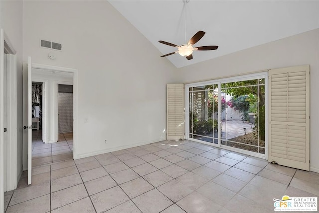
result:
[(169, 46), (177, 47), (178, 51), (171, 52), (166, 55), (160, 56), (160, 57), (166, 57), (168, 55), (172, 55), (175, 53), (179, 53), (181, 56), (186, 56), (187, 60), (193, 59), (193, 51), (194, 50), (216, 50), (218, 49), (218, 46), (200, 46), (200, 47), (193, 47), (195, 43), (197, 43), (203, 36), (205, 35), (205, 32), (198, 31), (189, 41), (187, 44), (183, 44), (181, 46), (178, 46), (176, 44), (168, 43), (166, 41), (159, 41), (162, 44), (166, 44)]

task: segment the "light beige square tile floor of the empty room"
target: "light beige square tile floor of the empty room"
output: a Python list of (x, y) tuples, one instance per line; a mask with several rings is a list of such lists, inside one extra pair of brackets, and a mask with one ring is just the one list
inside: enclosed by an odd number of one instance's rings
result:
[(319, 196), (318, 173), (190, 141), (55, 161), (56, 147), (34, 145), (51, 161), (33, 168), (31, 186), (22, 177), (5, 193), (6, 213), (268, 213), (273, 198)]

